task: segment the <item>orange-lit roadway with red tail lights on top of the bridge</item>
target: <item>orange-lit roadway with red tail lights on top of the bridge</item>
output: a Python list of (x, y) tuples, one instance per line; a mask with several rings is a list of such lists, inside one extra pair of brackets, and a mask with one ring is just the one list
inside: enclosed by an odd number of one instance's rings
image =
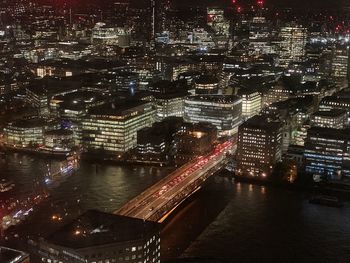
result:
[[(217, 145), (210, 154), (199, 157), (181, 166), (129, 201), (115, 213), (147, 220), (169, 202), (173, 202), (173, 204), (171, 204), (172, 207), (176, 206), (179, 200), (175, 200), (175, 197), (193, 182), (201, 179), (204, 174), (211, 172), (213, 168), (220, 165), (226, 158), (226, 153), (231, 148), (232, 142), (229, 141)], [(191, 193), (187, 193), (187, 195), (189, 194)]]

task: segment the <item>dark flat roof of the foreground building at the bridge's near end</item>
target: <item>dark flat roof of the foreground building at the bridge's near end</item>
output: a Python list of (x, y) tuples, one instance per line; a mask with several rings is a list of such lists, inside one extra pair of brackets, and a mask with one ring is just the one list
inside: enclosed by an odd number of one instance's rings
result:
[(140, 240), (158, 233), (160, 224), (142, 219), (89, 210), (46, 238), (72, 249)]

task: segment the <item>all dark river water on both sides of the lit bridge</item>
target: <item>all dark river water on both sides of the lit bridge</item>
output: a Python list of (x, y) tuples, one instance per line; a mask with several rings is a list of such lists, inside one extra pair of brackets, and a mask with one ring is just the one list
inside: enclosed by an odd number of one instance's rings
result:
[[(0, 161), (0, 177), (12, 178), (18, 195), (36, 189), (46, 169), (46, 160), (25, 155)], [(114, 211), (168, 172), (83, 162), (18, 229), (45, 235), (86, 209)], [(62, 222), (51, 220), (55, 213)], [(161, 250), (162, 262), (350, 262), (350, 206), (315, 206), (301, 193), (217, 176), (169, 219)]]

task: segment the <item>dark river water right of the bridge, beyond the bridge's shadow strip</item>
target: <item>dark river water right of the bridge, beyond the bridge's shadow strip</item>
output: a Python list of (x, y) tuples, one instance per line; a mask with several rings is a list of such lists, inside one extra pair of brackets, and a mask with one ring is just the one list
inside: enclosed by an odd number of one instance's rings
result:
[(223, 262), (350, 262), (350, 209), (244, 184), (185, 255)]

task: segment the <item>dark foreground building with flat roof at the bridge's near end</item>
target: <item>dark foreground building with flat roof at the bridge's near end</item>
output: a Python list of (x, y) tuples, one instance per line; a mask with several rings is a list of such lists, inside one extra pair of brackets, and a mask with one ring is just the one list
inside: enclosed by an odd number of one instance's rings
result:
[(158, 223), (89, 210), (36, 248), (42, 262), (160, 262)]

